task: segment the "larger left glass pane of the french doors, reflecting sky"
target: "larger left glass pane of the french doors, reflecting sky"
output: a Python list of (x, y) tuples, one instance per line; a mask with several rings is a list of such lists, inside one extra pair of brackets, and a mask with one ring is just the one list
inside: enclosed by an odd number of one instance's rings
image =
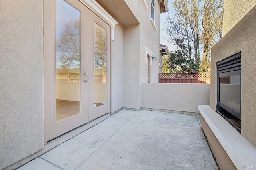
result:
[(56, 0), (56, 121), (80, 113), (80, 11)]

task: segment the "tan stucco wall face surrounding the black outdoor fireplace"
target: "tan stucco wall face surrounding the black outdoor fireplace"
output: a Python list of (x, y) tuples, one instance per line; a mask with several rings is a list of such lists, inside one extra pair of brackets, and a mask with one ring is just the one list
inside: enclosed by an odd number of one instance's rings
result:
[[(216, 109), (216, 62), (241, 51), (242, 131), (256, 146), (256, 6), (250, 10), (214, 47), (211, 52), (210, 105)], [(217, 114), (217, 113), (216, 113)]]

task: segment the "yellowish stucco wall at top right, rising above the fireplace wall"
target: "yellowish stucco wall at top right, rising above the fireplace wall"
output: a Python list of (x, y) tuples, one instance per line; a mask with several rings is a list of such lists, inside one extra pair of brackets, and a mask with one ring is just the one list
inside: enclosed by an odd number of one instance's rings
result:
[(241, 20), (256, 4), (256, 0), (224, 0), (222, 36)]

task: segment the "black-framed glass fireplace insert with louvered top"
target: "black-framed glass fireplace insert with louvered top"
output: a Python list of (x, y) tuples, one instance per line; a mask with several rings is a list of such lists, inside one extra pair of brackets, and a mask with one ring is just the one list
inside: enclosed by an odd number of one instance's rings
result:
[(241, 53), (223, 59), (216, 65), (216, 111), (241, 131)]

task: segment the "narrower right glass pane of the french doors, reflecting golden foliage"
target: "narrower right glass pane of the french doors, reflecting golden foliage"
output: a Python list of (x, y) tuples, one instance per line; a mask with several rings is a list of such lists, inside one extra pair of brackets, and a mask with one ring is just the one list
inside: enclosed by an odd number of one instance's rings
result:
[(94, 22), (94, 107), (106, 104), (106, 29)]

